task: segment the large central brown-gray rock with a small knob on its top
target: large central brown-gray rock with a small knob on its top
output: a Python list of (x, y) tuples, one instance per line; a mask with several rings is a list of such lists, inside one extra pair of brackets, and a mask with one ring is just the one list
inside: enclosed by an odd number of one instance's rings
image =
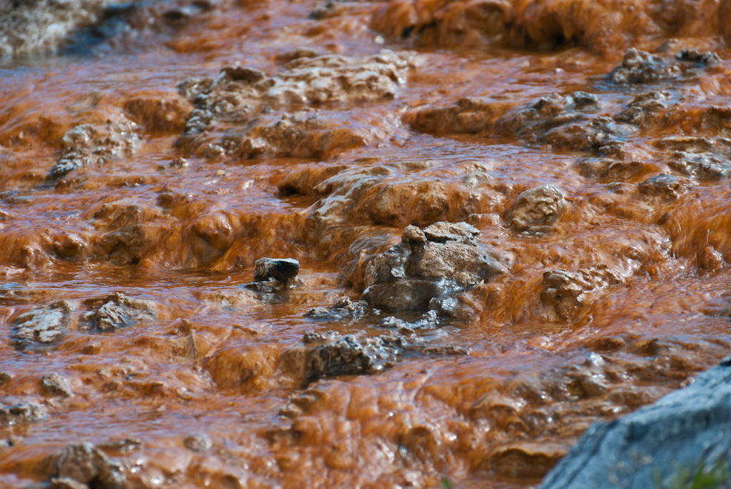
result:
[(361, 299), (387, 311), (453, 312), (455, 295), (506, 273), (496, 254), (464, 222), (407, 226), (401, 243), (363, 267)]

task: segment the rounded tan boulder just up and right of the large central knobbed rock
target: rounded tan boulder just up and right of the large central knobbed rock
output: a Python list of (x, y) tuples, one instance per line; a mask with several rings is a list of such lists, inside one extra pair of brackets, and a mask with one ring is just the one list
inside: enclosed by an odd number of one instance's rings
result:
[(548, 232), (566, 208), (561, 191), (542, 185), (518, 195), (518, 200), (504, 213), (508, 226), (518, 232)]

